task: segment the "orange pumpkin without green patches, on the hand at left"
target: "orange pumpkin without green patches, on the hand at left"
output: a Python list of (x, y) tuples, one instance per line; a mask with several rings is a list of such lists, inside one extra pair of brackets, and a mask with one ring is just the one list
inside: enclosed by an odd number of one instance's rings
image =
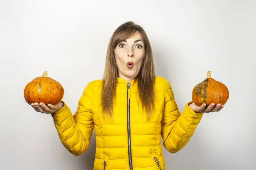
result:
[(47, 71), (44, 71), (42, 77), (36, 77), (29, 82), (24, 89), (24, 98), (30, 105), (31, 103), (44, 103), (45, 105), (57, 105), (64, 96), (62, 85), (47, 77)]

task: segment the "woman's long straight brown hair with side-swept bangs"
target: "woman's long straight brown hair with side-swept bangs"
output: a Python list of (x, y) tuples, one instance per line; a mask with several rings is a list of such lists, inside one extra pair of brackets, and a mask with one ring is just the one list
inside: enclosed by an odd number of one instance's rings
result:
[(148, 40), (147, 34), (144, 29), (134, 24), (134, 22), (126, 22), (119, 26), (114, 31), (109, 44), (105, 62), (105, 72), (102, 85), (102, 113), (108, 113), (112, 116), (113, 112), (113, 100), (116, 95), (116, 82), (117, 82), (117, 66), (114, 56), (114, 51), (118, 43), (134, 35), (135, 32), (139, 32), (142, 40), (145, 44), (145, 57), (140, 69), (140, 73), (134, 81), (138, 83), (139, 97), (146, 110), (147, 117), (150, 118), (152, 109), (154, 109), (154, 63), (151, 45)]

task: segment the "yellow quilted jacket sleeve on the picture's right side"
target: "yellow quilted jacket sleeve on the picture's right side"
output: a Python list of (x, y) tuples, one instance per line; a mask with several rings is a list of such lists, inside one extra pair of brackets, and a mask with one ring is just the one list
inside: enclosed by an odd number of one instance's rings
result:
[(180, 114), (171, 85), (166, 80), (161, 135), (164, 147), (171, 153), (178, 152), (189, 142), (203, 116), (189, 108), (191, 103), (187, 103)]

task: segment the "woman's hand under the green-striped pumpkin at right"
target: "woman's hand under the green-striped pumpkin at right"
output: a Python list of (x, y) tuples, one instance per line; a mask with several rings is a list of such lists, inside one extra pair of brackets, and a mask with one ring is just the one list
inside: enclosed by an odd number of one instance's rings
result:
[(215, 105), (214, 103), (210, 104), (208, 107), (206, 107), (206, 104), (204, 103), (203, 105), (201, 106), (197, 106), (195, 105), (195, 103), (191, 103), (189, 105), (189, 107), (195, 112), (195, 113), (209, 113), (209, 112), (218, 112), (220, 111), (221, 109), (224, 108), (224, 105), (221, 105), (221, 104), (217, 104)]

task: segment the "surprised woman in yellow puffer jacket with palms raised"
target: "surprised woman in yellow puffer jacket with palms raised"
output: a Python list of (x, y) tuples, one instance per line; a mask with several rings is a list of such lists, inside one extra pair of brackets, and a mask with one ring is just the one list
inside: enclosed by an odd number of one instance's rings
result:
[(94, 170), (165, 170), (164, 147), (176, 153), (188, 142), (203, 113), (224, 106), (188, 102), (180, 114), (169, 82), (155, 77), (151, 45), (142, 27), (119, 26), (108, 45), (102, 80), (88, 83), (76, 113), (65, 102), (32, 107), (51, 113), (64, 147), (78, 156), (96, 135)]

